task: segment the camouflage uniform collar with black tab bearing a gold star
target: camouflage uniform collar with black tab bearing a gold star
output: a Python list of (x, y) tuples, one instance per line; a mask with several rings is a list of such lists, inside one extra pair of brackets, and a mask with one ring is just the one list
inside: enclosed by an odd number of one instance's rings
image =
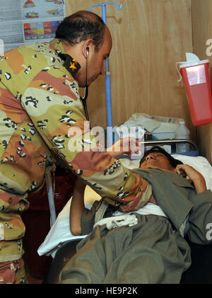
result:
[(81, 68), (81, 65), (73, 59), (68, 54), (65, 54), (64, 46), (61, 40), (55, 38), (54, 40), (50, 41), (50, 44), (57, 52), (57, 55), (64, 60), (64, 67), (70, 72), (71, 76), (75, 76), (78, 70)]

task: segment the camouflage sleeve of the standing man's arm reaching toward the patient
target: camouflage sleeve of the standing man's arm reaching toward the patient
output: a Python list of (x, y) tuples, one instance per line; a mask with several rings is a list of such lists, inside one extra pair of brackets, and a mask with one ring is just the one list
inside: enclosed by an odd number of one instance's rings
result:
[(21, 98), (23, 108), (50, 150), (69, 165), (102, 197), (123, 211), (142, 207), (148, 201), (148, 183), (141, 176), (124, 168), (110, 154), (98, 152), (95, 136), (78, 94), (78, 84), (64, 74), (64, 68), (48, 67), (40, 71)]

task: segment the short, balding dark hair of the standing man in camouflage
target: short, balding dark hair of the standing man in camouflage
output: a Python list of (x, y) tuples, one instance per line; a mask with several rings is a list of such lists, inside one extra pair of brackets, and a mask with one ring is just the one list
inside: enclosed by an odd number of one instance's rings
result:
[(98, 52), (105, 38), (105, 23), (91, 11), (78, 11), (64, 18), (57, 28), (55, 38), (66, 40), (70, 45), (92, 38), (95, 52)]

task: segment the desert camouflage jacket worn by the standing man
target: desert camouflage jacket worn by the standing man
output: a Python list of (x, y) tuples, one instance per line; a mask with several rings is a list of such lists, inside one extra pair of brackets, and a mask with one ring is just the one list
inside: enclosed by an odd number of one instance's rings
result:
[[(0, 221), (28, 208), (27, 195), (38, 190), (54, 164), (53, 154), (93, 190), (122, 211), (146, 204), (148, 183), (104, 152), (92, 151), (94, 137), (73, 79), (59, 56), (57, 39), (24, 45), (0, 56)], [(74, 62), (75, 60), (73, 60)], [(71, 66), (71, 65), (70, 65)], [(73, 131), (78, 149), (73, 150)], [(88, 125), (87, 125), (88, 127)], [(89, 142), (85, 142), (89, 140)], [(88, 148), (89, 147), (89, 148)], [(11, 219), (12, 220), (12, 219)], [(9, 222), (21, 236), (23, 227)], [(11, 229), (4, 231), (11, 239)]]

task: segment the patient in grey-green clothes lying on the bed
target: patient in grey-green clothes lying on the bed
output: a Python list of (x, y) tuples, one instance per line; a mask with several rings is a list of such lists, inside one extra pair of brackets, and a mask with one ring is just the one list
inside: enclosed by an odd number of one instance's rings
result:
[(86, 185), (76, 183), (70, 228), (88, 236), (61, 271), (61, 283), (179, 283), (191, 265), (184, 236), (210, 243), (206, 225), (212, 222), (212, 194), (201, 173), (160, 147), (146, 151), (134, 173), (148, 181), (149, 200), (129, 213), (104, 200), (86, 209)]

